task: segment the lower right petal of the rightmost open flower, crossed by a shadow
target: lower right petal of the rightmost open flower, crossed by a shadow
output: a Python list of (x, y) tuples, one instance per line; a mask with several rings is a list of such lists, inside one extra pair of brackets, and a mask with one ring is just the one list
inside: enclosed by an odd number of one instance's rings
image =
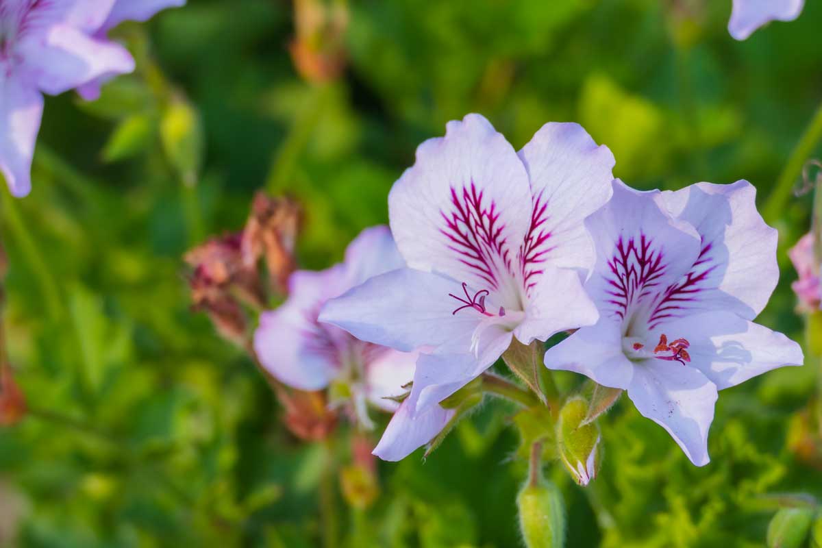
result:
[(732, 312), (705, 312), (674, 320), (659, 328), (652, 340), (663, 330), (688, 340), (688, 365), (702, 371), (720, 390), (777, 367), (801, 366), (804, 361), (797, 343)]

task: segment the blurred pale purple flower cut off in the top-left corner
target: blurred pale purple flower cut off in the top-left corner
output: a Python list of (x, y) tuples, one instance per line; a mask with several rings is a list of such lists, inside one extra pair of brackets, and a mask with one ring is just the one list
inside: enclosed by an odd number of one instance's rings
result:
[(181, 2), (0, 0), (0, 172), (12, 195), (31, 189), (43, 94), (78, 88), (94, 97), (95, 82), (134, 70), (132, 56), (104, 30)]

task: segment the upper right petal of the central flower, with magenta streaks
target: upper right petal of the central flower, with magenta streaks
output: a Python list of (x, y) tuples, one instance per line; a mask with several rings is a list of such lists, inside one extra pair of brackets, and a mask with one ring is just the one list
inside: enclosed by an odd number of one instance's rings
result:
[(533, 193), (522, 258), (526, 287), (542, 265), (593, 268), (593, 243), (583, 220), (612, 195), (614, 157), (579, 124), (545, 124), (520, 150)]

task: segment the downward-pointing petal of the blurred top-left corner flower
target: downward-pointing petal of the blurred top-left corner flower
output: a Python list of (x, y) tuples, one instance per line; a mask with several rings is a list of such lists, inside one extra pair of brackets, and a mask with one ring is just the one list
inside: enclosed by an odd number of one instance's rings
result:
[(43, 95), (15, 76), (0, 80), (0, 172), (12, 196), (31, 190), (31, 159), (43, 117)]

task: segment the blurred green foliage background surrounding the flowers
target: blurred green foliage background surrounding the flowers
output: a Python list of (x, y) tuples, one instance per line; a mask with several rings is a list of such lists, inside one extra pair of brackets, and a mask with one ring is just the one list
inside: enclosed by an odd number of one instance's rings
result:
[[(808, 4), (742, 43), (731, 0), (351, 0), (325, 30), (290, 2), (189, 0), (120, 27), (136, 73), (94, 103), (49, 97), (34, 191), (0, 191), (30, 408), (0, 430), (0, 546), (520, 546), (513, 408), (487, 402), (426, 460), (380, 463), (376, 504), (352, 509), (345, 427), (289, 433), (252, 361), (191, 311), (183, 253), (242, 228), (265, 189), (299, 200), (298, 260), (325, 268), (386, 222), (392, 182), (448, 120), (483, 113), (517, 148), (575, 121), (632, 186), (753, 182), (783, 246), (760, 322), (804, 341), (784, 249), (810, 226), (785, 170), (822, 99)], [(623, 398), (596, 481), (552, 474), (567, 546), (762, 546), (760, 495), (822, 496), (817, 369), (724, 391), (702, 468)]]

